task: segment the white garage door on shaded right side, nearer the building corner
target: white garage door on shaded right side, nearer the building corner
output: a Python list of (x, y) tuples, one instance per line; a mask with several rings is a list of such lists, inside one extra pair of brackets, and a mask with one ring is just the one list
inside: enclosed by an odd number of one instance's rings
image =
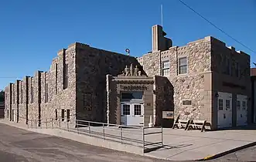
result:
[(217, 127), (232, 127), (232, 94), (218, 92)]

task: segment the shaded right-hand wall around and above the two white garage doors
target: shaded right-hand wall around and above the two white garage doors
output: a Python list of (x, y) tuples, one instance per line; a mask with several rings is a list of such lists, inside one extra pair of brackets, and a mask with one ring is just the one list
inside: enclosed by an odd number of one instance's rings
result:
[[(213, 123), (217, 125), (217, 92), (232, 93), (233, 127), (237, 123), (237, 95), (248, 97), (248, 118), (251, 123), (250, 56), (228, 48), (224, 42), (211, 39), (213, 70)], [(236, 66), (236, 64), (238, 66)]]

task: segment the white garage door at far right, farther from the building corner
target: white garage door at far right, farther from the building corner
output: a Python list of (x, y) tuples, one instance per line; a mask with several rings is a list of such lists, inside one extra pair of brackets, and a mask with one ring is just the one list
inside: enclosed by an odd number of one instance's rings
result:
[(237, 95), (237, 126), (247, 125), (247, 96)]

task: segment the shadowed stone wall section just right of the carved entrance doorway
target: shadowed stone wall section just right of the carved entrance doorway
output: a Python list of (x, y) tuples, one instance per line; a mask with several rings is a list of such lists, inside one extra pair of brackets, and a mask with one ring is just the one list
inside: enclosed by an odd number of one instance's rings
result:
[(165, 76), (155, 76), (155, 126), (171, 127), (173, 120), (162, 119), (162, 111), (174, 111), (173, 86)]

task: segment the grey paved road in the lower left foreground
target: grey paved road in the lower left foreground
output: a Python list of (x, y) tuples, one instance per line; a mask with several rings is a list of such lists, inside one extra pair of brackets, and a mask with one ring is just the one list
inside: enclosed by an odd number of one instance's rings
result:
[(0, 161), (164, 161), (33, 133), (0, 123)]

